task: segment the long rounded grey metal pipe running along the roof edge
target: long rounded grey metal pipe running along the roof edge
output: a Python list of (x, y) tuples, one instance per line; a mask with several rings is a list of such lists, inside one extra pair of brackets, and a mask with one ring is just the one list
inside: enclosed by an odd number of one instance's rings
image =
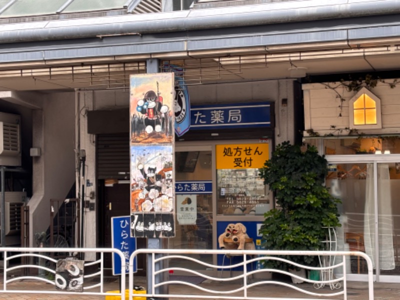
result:
[[(400, 13), (400, 0), (305, 0), (0, 25), (0, 43), (174, 32)], [(139, 38), (139, 37), (137, 37)]]

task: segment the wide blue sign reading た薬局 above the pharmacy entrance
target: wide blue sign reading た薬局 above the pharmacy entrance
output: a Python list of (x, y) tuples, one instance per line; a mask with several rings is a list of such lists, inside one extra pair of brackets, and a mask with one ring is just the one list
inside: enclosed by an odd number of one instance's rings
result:
[(190, 130), (270, 127), (270, 103), (192, 105)]

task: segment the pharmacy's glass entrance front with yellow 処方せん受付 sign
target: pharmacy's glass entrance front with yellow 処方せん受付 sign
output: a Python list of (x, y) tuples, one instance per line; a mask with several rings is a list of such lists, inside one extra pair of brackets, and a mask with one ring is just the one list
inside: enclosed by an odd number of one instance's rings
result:
[[(176, 236), (169, 238), (169, 248), (219, 248), (218, 236), (226, 225), (238, 222), (247, 227), (248, 235), (259, 246), (257, 228), (272, 201), (258, 176), (258, 167), (269, 152), (268, 140), (177, 143)], [(221, 263), (222, 259), (216, 255), (193, 258), (205, 263)], [(178, 265), (172, 262), (171, 266)], [(207, 266), (193, 262), (193, 269), (206, 272)]]

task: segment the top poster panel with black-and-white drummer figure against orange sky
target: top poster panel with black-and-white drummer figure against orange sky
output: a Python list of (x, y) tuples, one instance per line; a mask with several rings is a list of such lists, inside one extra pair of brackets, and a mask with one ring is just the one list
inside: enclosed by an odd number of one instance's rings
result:
[(130, 76), (130, 143), (173, 143), (173, 72)]

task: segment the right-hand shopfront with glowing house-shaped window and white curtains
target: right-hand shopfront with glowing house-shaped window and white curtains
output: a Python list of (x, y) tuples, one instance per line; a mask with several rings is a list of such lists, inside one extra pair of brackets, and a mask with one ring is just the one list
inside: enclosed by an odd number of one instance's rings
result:
[[(338, 249), (367, 253), (376, 280), (398, 282), (400, 123), (393, 99), (399, 91), (395, 79), (377, 80), (373, 86), (361, 81), (355, 90), (346, 89), (349, 82), (303, 85), (309, 116), (304, 142), (326, 155), (326, 184), (342, 202)], [(348, 262), (349, 277), (366, 278), (364, 261)]]

